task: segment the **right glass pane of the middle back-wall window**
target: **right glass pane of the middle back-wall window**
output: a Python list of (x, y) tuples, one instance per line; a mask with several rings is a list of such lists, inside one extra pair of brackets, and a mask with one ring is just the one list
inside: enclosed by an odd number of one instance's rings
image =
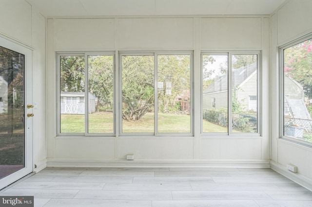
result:
[(191, 133), (191, 56), (157, 59), (158, 133)]

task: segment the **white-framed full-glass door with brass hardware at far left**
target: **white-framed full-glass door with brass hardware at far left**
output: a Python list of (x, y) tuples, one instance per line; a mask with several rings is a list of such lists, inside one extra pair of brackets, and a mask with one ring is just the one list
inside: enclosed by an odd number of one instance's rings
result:
[(26, 124), (31, 120), (25, 118), (25, 61), (25, 53), (0, 46), (0, 189), (32, 172), (28, 137), (32, 129)]

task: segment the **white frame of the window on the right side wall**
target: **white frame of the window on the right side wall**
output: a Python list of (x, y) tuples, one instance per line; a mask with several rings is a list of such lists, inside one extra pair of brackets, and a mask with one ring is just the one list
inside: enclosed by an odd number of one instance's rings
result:
[(284, 50), (287, 48), (290, 48), (294, 45), (297, 45), (301, 42), (304, 42), (306, 40), (312, 39), (312, 34), (304, 35), (302, 37), (299, 37), (291, 42), (288, 42), (278, 49), (278, 68), (279, 68), (279, 138), (284, 139), (287, 141), (291, 141), (296, 144), (300, 144), (306, 147), (312, 148), (312, 143), (303, 141), (300, 139), (284, 136), (284, 110), (285, 110), (285, 104), (284, 104)]

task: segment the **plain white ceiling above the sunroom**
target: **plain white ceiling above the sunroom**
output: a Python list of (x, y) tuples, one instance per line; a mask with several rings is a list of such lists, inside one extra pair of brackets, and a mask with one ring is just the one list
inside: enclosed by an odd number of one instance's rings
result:
[(270, 15), (285, 0), (26, 0), (45, 17)]

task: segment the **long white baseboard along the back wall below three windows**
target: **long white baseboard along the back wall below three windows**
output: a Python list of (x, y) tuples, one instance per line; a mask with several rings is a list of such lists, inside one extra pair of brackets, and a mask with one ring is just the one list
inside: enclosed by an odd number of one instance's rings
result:
[(270, 168), (269, 160), (145, 160), (48, 158), (47, 167)]

